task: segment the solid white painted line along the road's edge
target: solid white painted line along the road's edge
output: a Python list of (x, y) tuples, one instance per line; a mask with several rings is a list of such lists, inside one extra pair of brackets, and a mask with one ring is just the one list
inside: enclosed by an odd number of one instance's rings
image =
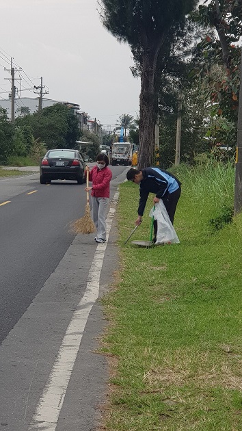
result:
[[(116, 192), (107, 215), (107, 242), (116, 212), (118, 196), (119, 192)], [(72, 319), (62, 340), (62, 345), (59, 348), (57, 359), (44, 387), (28, 431), (55, 431), (57, 427), (59, 413), (62, 409), (72, 369), (75, 365), (85, 325), (92, 306), (94, 306), (98, 299), (100, 272), (103, 267), (107, 242), (105, 244), (98, 244), (96, 248), (84, 296), (77, 306), (77, 311), (72, 315)]]

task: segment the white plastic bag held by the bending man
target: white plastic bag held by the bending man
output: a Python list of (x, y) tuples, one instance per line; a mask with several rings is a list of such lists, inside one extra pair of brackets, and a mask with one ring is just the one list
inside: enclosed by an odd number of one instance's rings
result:
[(155, 204), (155, 208), (150, 210), (150, 217), (153, 215), (154, 220), (157, 220), (157, 241), (155, 244), (178, 244), (180, 241), (161, 199)]

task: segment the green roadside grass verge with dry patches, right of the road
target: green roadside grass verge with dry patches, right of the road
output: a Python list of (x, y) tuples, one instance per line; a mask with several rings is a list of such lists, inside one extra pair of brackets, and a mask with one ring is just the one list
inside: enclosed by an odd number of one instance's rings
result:
[[(242, 216), (219, 230), (210, 223), (232, 206), (234, 169), (211, 164), (177, 174), (180, 244), (124, 246), (139, 190), (120, 186), (120, 271), (103, 298), (112, 376), (107, 430), (242, 429)], [(149, 239), (151, 207), (150, 196), (132, 239)]]

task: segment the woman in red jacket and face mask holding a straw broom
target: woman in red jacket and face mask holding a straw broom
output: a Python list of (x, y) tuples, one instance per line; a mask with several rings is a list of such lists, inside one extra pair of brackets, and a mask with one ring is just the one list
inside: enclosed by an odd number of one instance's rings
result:
[[(85, 187), (85, 191), (92, 190), (92, 218), (97, 230), (95, 241), (104, 243), (106, 241), (106, 216), (109, 205), (111, 170), (107, 168), (109, 159), (104, 153), (96, 157), (96, 166), (89, 173), (92, 187)], [(87, 168), (89, 170), (89, 167)]]

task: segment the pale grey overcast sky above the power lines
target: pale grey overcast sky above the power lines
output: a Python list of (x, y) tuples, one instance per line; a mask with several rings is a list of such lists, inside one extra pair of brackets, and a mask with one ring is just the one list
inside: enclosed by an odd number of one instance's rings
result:
[(10, 92), (4, 68), (14, 57), (26, 79), (22, 90), (43, 77), (46, 97), (78, 103), (106, 129), (121, 114), (136, 117), (140, 82), (129, 69), (131, 51), (107, 33), (97, 8), (97, 0), (0, 0), (0, 98)]

